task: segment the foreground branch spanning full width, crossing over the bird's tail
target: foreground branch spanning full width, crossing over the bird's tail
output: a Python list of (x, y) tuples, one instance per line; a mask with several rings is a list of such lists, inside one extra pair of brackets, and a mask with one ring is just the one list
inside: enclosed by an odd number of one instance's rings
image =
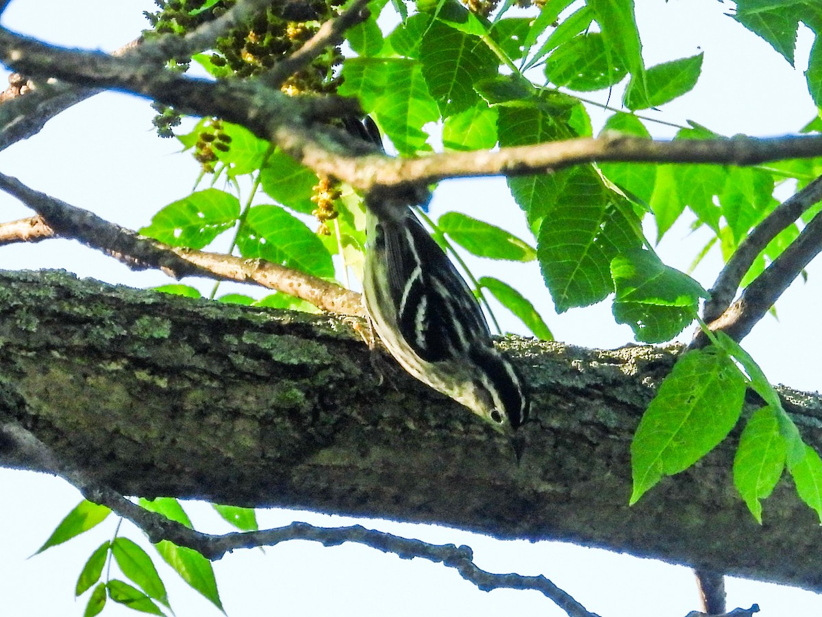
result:
[(274, 141), (316, 173), (337, 177), (363, 191), (377, 186), (427, 185), (450, 177), (546, 173), (592, 161), (751, 165), (822, 155), (822, 136), (653, 141), (606, 135), (496, 152), (433, 154), (418, 159), (391, 159), (379, 154), (363, 157), (357, 156), (363, 152), (362, 145), (355, 150), (342, 131), (315, 124), (358, 113), (357, 104), (344, 99), (287, 97), (261, 81), (229, 84), (196, 80), (157, 71), (129, 58), (54, 48), (3, 29), (0, 58), (27, 74), (127, 90), (171, 104), (182, 113), (238, 122), (257, 136)]

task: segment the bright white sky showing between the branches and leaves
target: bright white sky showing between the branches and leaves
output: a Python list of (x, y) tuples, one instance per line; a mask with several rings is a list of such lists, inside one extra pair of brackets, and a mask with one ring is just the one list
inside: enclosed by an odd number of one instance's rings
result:
[[(773, 136), (797, 131), (815, 115), (801, 74), (810, 47), (803, 33), (797, 69), (790, 67), (741, 25), (723, 16), (732, 5), (716, 0), (637, 0), (644, 56), (649, 65), (705, 53), (704, 74), (696, 90), (663, 107), (668, 122), (694, 119), (726, 135), (744, 132)], [(13, 0), (3, 23), (14, 30), (54, 44), (111, 50), (136, 38), (150, 0)], [(46, 18), (44, 18), (46, 16)], [(620, 93), (612, 94), (618, 104)], [(196, 163), (175, 154), (178, 144), (159, 140), (151, 130), (149, 104), (124, 94), (100, 94), (61, 114), (38, 136), (0, 153), (0, 169), (52, 196), (93, 210), (127, 228), (139, 228), (162, 205), (191, 190)], [(594, 122), (598, 116), (594, 114)], [(601, 121), (601, 118), (600, 118)], [(657, 127), (658, 136), (670, 136)], [(436, 191), (432, 212), (466, 210), (514, 233), (526, 236), (524, 221), (498, 179), (445, 182)], [(30, 215), (15, 200), (0, 195), (0, 219)], [(510, 213), (515, 212), (514, 216)], [(706, 238), (674, 228), (659, 251), (669, 265), (686, 269)], [(156, 272), (133, 273), (118, 262), (68, 241), (0, 249), (7, 269), (66, 268), (81, 276), (135, 287), (168, 283)], [(500, 276), (520, 288), (543, 312), (556, 338), (589, 347), (628, 343), (630, 329), (613, 324), (607, 304), (570, 311), (557, 317), (551, 309), (535, 264), (489, 264), (469, 260), (477, 273)], [(709, 287), (718, 260), (706, 260), (695, 273)], [(819, 387), (818, 363), (808, 363), (810, 350), (822, 346), (815, 323), (819, 306), (819, 266), (810, 281), (797, 283), (778, 305), (779, 320), (767, 318), (744, 344), (774, 382), (800, 389)], [(514, 277), (512, 279), (512, 277)], [(210, 288), (210, 283), (200, 285)], [(229, 292), (231, 286), (224, 288)], [(239, 288), (251, 292), (250, 288)], [(813, 307), (813, 308), (811, 308)], [(503, 328), (520, 325), (500, 315)], [(801, 350), (808, 349), (808, 353)], [(88, 555), (113, 533), (113, 520), (94, 532), (44, 555), (27, 559), (60, 519), (80, 500), (65, 482), (30, 472), (0, 470), (0, 534), (5, 549), (0, 560), (0, 596), (4, 615), (81, 615), (85, 599), (72, 606), (74, 584)], [(191, 508), (204, 531), (227, 531), (210, 509)], [(765, 504), (764, 516), (768, 516)], [(283, 510), (261, 513), (261, 526), (307, 520), (346, 524), (351, 519)], [(362, 521), (359, 521), (363, 523)], [(364, 522), (425, 541), (473, 546), (478, 565), (492, 572), (543, 573), (564, 587), (589, 610), (603, 617), (686, 615), (698, 608), (690, 570), (602, 550), (542, 542), (501, 542), (455, 530), (388, 522)], [(124, 529), (130, 525), (124, 526)], [(125, 532), (137, 540), (133, 528)], [(161, 560), (156, 559), (158, 564)], [(273, 549), (239, 551), (215, 564), (219, 589), (229, 615), (564, 615), (536, 592), (479, 592), (440, 565), (403, 561), (362, 546), (326, 549), (291, 542)], [(218, 615), (160, 566), (178, 617)], [(759, 603), (760, 615), (819, 615), (822, 598), (764, 583), (732, 579), (727, 583), (729, 608)], [(108, 606), (104, 615), (134, 615)]]

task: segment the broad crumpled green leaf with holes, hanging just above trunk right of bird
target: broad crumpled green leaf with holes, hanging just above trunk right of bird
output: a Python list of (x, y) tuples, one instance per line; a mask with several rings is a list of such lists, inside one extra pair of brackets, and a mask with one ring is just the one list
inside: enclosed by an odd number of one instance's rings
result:
[(690, 276), (664, 265), (651, 251), (626, 251), (614, 257), (617, 288), (613, 314), (628, 324), (637, 340), (662, 343), (693, 322), (700, 297), (709, 294)]

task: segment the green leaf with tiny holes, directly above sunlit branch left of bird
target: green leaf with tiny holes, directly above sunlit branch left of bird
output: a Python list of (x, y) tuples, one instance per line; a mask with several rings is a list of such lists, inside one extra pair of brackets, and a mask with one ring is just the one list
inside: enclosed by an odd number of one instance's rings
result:
[(334, 264), (321, 240), (277, 205), (255, 205), (248, 210), (237, 246), (249, 259), (263, 258), (314, 276), (334, 276)]

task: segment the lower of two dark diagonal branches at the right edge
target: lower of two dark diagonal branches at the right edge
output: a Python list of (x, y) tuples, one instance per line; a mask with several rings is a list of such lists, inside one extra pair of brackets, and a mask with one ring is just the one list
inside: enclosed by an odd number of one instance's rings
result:
[[(741, 341), (820, 251), (822, 213), (810, 220), (797, 239), (748, 285), (727, 311), (709, 324), (709, 328), (714, 332), (722, 331), (737, 342)], [(708, 337), (700, 330), (690, 347), (698, 348), (707, 343)]]

